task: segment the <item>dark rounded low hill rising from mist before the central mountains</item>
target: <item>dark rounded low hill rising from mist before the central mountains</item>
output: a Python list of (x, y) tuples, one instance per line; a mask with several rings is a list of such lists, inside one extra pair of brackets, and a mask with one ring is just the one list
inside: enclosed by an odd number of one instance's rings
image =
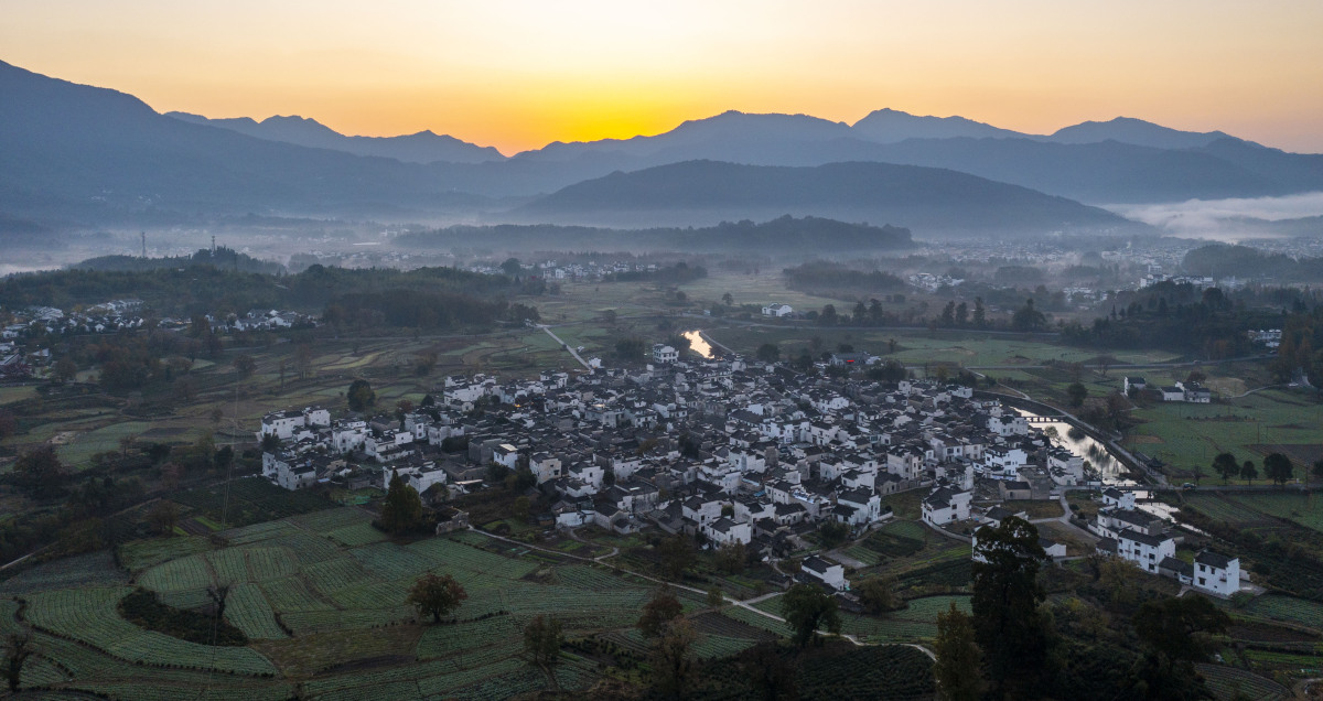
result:
[(791, 168), (685, 161), (579, 183), (509, 217), (683, 226), (785, 213), (888, 221), (910, 226), (919, 235), (1139, 227), (1105, 210), (1027, 188), (885, 163)]

